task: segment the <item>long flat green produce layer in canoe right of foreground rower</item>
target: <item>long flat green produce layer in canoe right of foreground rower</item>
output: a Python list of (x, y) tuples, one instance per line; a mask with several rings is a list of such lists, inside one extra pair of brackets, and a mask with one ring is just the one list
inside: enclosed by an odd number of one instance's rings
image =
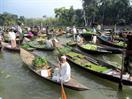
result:
[(93, 70), (93, 71), (96, 71), (96, 72), (103, 72), (103, 71), (108, 70), (107, 67), (97, 65), (97, 64), (94, 64), (94, 63), (88, 61), (87, 59), (85, 59), (85, 56), (82, 55), (82, 54), (78, 54), (78, 53), (75, 53), (75, 52), (70, 52), (66, 55), (71, 57), (71, 59), (76, 64), (79, 64), (80, 66), (88, 68), (90, 70)]

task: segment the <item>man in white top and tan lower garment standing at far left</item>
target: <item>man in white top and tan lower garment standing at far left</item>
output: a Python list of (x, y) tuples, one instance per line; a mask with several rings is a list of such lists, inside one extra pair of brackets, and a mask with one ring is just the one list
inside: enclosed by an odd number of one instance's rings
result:
[(8, 36), (9, 39), (11, 40), (11, 47), (16, 48), (16, 34), (12, 28), (9, 30)]

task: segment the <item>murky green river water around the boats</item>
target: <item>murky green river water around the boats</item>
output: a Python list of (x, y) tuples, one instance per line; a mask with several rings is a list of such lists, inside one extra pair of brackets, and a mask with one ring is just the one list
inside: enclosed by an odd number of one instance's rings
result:
[[(38, 55), (55, 58), (52, 53), (35, 51)], [(107, 62), (121, 64), (120, 55), (99, 55)], [(87, 71), (71, 65), (72, 75), (80, 83), (89, 87), (87, 91), (74, 91), (65, 88), (68, 99), (132, 99), (132, 87), (123, 86), (118, 91), (118, 84), (94, 76)], [(19, 53), (6, 50), (0, 52), (0, 99), (59, 99), (60, 86), (50, 83), (23, 64)]]

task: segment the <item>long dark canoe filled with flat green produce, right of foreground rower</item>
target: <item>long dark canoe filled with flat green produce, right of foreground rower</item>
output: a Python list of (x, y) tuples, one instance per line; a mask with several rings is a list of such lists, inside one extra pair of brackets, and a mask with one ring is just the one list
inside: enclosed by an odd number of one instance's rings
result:
[[(79, 52), (69, 52), (66, 54), (67, 59), (70, 63), (78, 66), (89, 73), (92, 73), (101, 78), (119, 83), (120, 82), (120, 72), (119, 68), (116, 68), (113, 65), (105, 63), (101, 60), (95, 59), (93, 57), (88, 57), (84, 54), (80, 54)], [(132, 81), (128, 80), (129, 75), (123, 74), (122, 83), (124, 85), (132, 86)]]

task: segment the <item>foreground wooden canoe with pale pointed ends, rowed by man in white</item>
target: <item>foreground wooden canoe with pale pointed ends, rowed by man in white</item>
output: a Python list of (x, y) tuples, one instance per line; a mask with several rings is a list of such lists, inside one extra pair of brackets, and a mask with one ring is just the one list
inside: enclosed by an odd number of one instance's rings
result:
[[(32, 72), (34, 72), (35, 74), (37, 74), (38, 76), (42, 77), (45, 80), (48, 80), (52, 83), (60, 85), (60, 82), (52, 80), (51, 77), (41, 76), (40, 72), (36, 71), (33, 68), (32, 60), (35, 58), (35, 55), (31, 54), (30, 52), (28, 52), (24, 49), (20, 49), (20, 56), (21, 56), (23, 62), (27, 65), (27, 67)], [(51, 66), (51, 67), (55, 67), (55, 65), (50, 64), (50, 62), (48, 63), (48, 65)], [(73, 89), (73, 90), (78, 90), (78, 91), (83, 91), (83, 90), (88, 90), (89, 89), (86, 86), (80, 84), (78, 81), (76, 81), (75, 79), (72, 79), (72, 78), (69, 82), (64, 83), (64, 87), (67, 87), (67, 88), (70, 88), (70, 89)]]

